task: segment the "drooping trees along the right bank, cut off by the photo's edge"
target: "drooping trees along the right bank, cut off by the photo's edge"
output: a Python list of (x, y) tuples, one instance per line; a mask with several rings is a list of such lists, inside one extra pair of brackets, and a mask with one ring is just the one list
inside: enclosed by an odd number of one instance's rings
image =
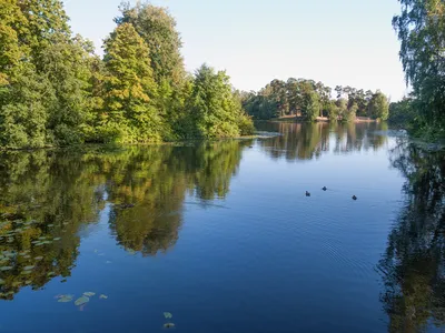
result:
[(416, 135), (445, 138), (445, 3), (399, 0), (393, 26), (400, 40), (400, 60), (409, 97), (392, 104), (389, 121)]

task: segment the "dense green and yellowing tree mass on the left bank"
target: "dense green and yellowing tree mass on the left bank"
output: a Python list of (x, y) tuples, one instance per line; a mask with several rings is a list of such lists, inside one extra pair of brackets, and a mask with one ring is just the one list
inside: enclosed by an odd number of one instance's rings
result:
[(103, 58), (60, 0), (0, 0), (0, 148), (250, 134), (229, 77), (186, 72), (169, 12), (122, 4)]

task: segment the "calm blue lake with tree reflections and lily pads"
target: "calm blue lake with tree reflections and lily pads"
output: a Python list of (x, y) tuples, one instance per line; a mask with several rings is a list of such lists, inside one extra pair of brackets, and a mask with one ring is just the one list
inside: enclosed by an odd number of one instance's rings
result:
[(0, 332), (441, 332), (444, 153), (257, 129), (278, 134), (2, 153)]

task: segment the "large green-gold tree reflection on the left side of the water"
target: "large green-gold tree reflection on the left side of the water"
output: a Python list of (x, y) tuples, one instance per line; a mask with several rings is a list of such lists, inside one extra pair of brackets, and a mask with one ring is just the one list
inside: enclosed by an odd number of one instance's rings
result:
[(187, 193), (225, 198), (251, 142), (101, 151), (3, 153), (0, 159), (0, 299), (68, 278), (80, 231), (109, 206), (128, 251), (154, 255), (178, 240)]

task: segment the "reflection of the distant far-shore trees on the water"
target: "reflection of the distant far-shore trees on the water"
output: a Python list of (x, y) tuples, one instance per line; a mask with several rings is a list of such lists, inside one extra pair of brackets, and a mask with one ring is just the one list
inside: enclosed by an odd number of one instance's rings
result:
[(261, 141), (261, 147), (273, 159), (286, 158), (288, 161), (318, 159), (330, 151), (345, 154), (378, 150), (387, 141), (380, 134), (387, 130), (386, 123), (259, 122), (257, 128), (283, 134)]

